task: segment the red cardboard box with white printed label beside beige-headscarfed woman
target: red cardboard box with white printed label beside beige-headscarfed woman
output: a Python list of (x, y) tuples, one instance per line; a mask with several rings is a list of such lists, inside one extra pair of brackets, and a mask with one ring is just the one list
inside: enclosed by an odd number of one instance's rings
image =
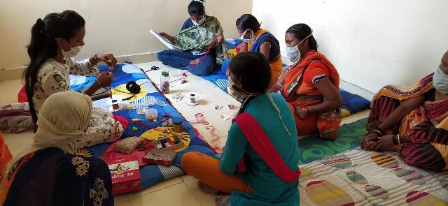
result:
[(105, 159), (112, 177), (112, 194), (114, 196), (139, 191), (141, 177), (137, 156), (126, 156), (119, 159)]

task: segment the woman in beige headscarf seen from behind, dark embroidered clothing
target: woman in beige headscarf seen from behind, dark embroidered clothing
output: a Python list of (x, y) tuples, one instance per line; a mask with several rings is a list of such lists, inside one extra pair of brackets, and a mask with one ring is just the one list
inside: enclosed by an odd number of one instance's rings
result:
[(3, 175), (0, 205), (113, 205), (109, 167), (102, 159), (75, 154), (91, 114), (92, 99), (85, 94), (48, 97), (32, 141)]

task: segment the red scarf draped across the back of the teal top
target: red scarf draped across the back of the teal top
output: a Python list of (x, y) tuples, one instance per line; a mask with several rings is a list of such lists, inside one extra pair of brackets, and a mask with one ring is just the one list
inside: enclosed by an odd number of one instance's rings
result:
[[(261, 157), (269, 168), (280, 177), (284, 182), (297, 182), (300, 177), (300, 170), (297, 168), (295, 172), (288, 168), (288, 165), (281, 159), (279, 152), (272, 145), (271, 140), (267, 137), (257, 120), (248, 112), (244, 112), (233, 119), (241, 128), (241, 131), (246, 136), (246, 140), (253, 147), (253, 150)], [(244, 164), (244, 156), (238, 163), (237, 172), (246, 172), (246, 165)]]

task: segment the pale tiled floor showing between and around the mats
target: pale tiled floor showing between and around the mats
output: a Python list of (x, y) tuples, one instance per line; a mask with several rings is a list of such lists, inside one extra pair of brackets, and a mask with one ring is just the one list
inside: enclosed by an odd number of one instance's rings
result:
[[(151, 66), (161, 66), (158, 62), (139, 64), (141, 68), (151, 68)], [(158, 83), (157, 78), (160, 77), (160, 71), (155, 71), (150, 73), (151, 79)], [(172, 80), (176, 80), (181, 77), (181, 73), (174, 71), (171, 73)], [(230, 96), (225, 94), (219, 89), (216, 90), (216, 86), (210, 82), (203, 82), (202, 79), (190, 75), (188, 77), (190, 81), (187, 84), (172, 84), (173, 91), (179, 91), (181, 93), (188, 93), (194, 87), (202, 87), (205, 89), (200, 89), (196, 93), (201, 97), (201, 105), (195, 108), (186, 107), (185, 101), (172, 101), (173, 105), (183, 113), (183, 115), (190, 121), (195, 120), (196, 112), (207, 111), (209, 117), (207, 121), (216, 123), (218, 131), (216, 134), (221, 138), (225, 139), (227, 137), (226, 132), (230, 127), (230, 121), (223, 121), (219, 114), (223, 113), (228, 117), (235, 115), (235, 111), (223, 108), (222, 110), (214, 110), (215, 105), (226, 106), (228, 103), (233, 103), (238, 105), (238, 103), (232, 99)], [(0, 104), (17, 102), (17, 94), (22, 87), (22, 82), (20, 80), (4, 81), (0, 82), (0, 88), (3, 91), (3, 98), (0, 98)], [(168, 96), (168, 98), (172, 98)], [(368, 111), (359, 112), (355, 115), (345, 117), (342, 119), (342, 124), (354, 122), (358, 119), (367, 117)], [(207, 128), (204, 126), (198, 127), (200, 133), (209, 133)], [(27, 144), (31, 139), (32, 132), (27, 131), (20, 134), (3, 134), (6, 144), (10, 148), (13, 154), (17, 154), (20, 149)], [(204, 137), (205, 138), (205, 137)], [(189, 175), (184, 175), (181, 177), (176, 177), (172, 179), (167, 179), (164, 182), (160, 182), (155, 186), (144, 191), (139, 191), (137, 193), (129, 193), (122, 196), (116, 196), (116, 205), (120, 206), (140, 206), (140, 205), (214, 205), (214, 196), (202, 193), (197, 188), (197, 179)]]

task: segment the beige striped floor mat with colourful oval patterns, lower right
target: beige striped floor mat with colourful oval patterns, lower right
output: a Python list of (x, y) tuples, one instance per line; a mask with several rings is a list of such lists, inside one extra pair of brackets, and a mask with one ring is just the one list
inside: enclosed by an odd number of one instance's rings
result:
[(448, 205), (448, 175), (357, 149), (300, 167), (300, 205)]

